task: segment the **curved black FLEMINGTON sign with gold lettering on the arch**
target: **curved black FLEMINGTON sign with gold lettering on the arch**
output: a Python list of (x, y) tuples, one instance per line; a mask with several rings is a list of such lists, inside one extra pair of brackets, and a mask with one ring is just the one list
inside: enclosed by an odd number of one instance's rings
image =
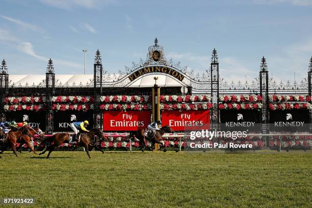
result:
[(144, 67), (142, 69), (139, 69), (135, 71), (134, 73), (132, 73), (131, 75), (129, 75), (129, 80), (132, 82), (138, 77), (142, 76), (143, 74), (154, 73), (154, 72), (169, 74), (175, 77), (179, 81), (183, 81), (184, 79), (184, 75), (182, 75), (180, 72), (172, 68), (169, 68), (166, 66), (149, 66), (149, 67)]

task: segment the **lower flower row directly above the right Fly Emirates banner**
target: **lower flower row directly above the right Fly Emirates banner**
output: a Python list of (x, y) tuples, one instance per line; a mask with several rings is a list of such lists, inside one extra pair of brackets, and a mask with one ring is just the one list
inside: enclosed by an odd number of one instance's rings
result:
[(211, 102), (207, 103), (174, 103), (174, 104), (160, 104), (160, 109), (164, 111), (172, 110), (207, 110), (212, 109), (213, 105)]

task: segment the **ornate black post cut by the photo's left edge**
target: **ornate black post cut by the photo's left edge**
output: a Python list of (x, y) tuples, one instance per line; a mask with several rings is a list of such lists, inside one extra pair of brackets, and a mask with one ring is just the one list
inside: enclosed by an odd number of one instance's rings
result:
[(8, 94), (9, 87), (9, 74), (7, 63), (5, 60), (2, 61), (0, 68), (0, 122), (6, 121), (6, 113), (4, 110), (5, 98)]

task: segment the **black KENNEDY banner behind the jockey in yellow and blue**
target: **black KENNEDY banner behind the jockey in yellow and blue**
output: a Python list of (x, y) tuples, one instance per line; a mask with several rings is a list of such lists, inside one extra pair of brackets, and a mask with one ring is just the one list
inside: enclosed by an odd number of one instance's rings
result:
[(54, 131), (72, 132), (70, 123), (76, 121), (89, 121), (89, 130), (93, 126), (93, 111), (58, 111), (54, 113)]

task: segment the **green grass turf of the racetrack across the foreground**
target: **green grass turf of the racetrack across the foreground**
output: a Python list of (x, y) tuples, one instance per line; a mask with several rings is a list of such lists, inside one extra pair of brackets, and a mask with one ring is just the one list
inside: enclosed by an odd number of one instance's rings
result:
[[(0, 198), (36, 207), (311, 207), (312, 152), (23, 152), (0, 159)], [(22, 207), (19, 205), (18, 207)], [(25, 206), (30, 207), (30, 206)]]

